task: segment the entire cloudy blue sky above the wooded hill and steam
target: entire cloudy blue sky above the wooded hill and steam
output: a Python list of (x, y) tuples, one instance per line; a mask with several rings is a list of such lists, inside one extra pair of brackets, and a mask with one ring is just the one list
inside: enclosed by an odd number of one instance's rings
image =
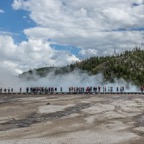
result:
[(0, 66), (22, 73), (144, 49), (144, 0), (0, 0)]

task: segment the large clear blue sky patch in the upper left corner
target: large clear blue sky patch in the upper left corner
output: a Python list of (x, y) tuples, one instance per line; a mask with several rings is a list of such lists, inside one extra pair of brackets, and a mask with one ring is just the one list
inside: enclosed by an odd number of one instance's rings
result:
[(0, 31), (11, 33), (15, 42), (18, 43), (26, 39), (23, 30), (36, 24), (29, 19), (29, 12), (14, 10), (12, 3), (13, 0), (0, 1), (0, 9), (4, 11), (0, 14)]

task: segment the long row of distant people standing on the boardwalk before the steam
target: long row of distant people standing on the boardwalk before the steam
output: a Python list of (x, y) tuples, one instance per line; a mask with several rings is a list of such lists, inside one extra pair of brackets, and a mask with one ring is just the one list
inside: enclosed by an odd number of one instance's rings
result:
[(0, 88), (0, 93), (31, 93), (31, 94), (51, 94), (51, 93), (123, 93), (125, 92), (124, 86), (119, 87), (104, 87), (104, 86), (97, 86), (97, 87), (69, 87), (67, 90), (62, 87), (20, 87), (19, 90), (14, 91), (13, 88)]

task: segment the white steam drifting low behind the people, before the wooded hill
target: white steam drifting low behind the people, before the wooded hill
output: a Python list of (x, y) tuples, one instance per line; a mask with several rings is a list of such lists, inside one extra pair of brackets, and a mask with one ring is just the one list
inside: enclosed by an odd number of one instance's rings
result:
[(58, 91), (62, 87), (63, 92), (68, 92), (69, 87), (113, 87), (113, 92), (116, 92), (116, 87), (125, 87), (125, 92), (137, 92), (139, 89), (127, 83), (123, 79), (115, 79), (114, 83), (104, 81), (103, 75), (98, 74), (89, 76), (86, 72), (75, 70), (64, 75), (55, 75), (53, 72), (46, 77), (40, 78), (35, 75), (35, 80), (24, 80), (19, 78), (15, 73), (12, 73), (7, 68), (0, 67), (0, 88), (13, 88), (14, 92), (19, 92), (20, 87), (25, 92), (26, 87), (57, 87)]

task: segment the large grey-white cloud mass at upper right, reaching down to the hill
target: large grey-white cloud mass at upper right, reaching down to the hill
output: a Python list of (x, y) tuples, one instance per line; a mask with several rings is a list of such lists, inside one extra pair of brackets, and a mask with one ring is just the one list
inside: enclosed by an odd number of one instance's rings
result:
[(113, 48), (121, 51), (123, 45), (128, 49), (133, 43), (140, 45), (143, 32), (113, 31), (144, 27), (144, 5), (132, 7), (134, 3), (134, 0), (15, 0), (13, 8), (29, 11), (37, 24), (24, 30), (27, 37), (50, 38), (58, 44), (79, 47), (80, 54), (87, 51), (90, 56), (92, 50), (93, 55), (104, 55), (112, 54)]

